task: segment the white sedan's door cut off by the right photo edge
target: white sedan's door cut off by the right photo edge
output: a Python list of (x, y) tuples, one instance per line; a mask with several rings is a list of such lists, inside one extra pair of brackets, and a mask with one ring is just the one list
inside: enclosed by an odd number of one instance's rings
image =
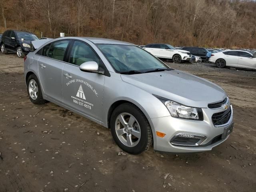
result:
[(252, 58), (252, 55), (239, 51), (239, 59), (237, 67), (254, 69), (256, 67), (256, 58)]

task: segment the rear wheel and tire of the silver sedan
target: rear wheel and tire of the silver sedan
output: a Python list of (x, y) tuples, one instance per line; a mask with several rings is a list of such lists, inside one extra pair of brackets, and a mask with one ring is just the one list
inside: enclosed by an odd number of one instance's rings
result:
[(41, 90), (38, 78), (36, 77), (35, 74), (32, 74), (28, 77), (27, 91), (28, 91), (28, 97), (32, 103), (34, 104), (46, 103), (46, 100), (44, 100), (42, 95), (42, 90)]

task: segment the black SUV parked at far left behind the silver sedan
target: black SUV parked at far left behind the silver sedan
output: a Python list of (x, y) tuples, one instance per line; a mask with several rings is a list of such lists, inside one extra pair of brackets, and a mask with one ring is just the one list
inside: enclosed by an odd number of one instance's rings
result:
[(2, 35), (0, 42), (1, 52), (4, 54), (8, 51), (14, 52), (18, 57), (23, 58), (30, 52), (30, 43), (33, 40), (38, 40), (33, 33), (7, 30)]

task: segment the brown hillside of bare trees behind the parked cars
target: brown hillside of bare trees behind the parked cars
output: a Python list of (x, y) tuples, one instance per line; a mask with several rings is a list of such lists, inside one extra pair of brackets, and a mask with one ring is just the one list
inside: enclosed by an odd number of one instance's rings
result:
[(0, 32), (256, 48), (254, 0), (0, 0)]

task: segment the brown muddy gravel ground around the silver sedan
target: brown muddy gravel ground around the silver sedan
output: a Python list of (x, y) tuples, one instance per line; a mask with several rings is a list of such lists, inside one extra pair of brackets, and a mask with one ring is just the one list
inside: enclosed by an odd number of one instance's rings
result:
[(255, 192), (256, 72), (167, 63), (218, 84), (232, 101), (234, 132), (210, 152), (120, 153), (108, 129), (32, 104), (23, 59), (0, 54), (0, 192)]

